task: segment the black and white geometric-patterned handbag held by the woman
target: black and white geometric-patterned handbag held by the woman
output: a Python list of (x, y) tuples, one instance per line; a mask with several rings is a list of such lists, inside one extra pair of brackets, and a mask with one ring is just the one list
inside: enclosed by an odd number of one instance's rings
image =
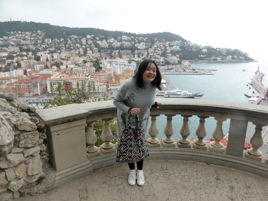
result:
[(131, 128), (131, 111), (128, 113), (116, 152), (116, 162), (134, 163), (150, 156), (143, 126), (136, 114), (136, 126)]

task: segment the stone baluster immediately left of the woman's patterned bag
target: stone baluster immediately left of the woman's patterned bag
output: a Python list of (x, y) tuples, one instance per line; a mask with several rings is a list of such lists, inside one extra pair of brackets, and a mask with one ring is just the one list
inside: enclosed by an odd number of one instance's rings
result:
[(113, 152), (115, 151), (114, 145), (110, 142), (113, 139), (113, 134), (110, 129), (110, 120), (113, 118), (109, 119), (103, 119), (103, 131), (101, 134), (101, 139), (104, 141), (104, 143), (100, 146), (101, 152), (108, 153), (108, 152)]

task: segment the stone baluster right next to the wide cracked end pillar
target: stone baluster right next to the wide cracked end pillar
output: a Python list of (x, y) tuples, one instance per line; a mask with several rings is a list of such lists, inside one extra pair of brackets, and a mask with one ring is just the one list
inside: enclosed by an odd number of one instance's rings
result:
[(92, 157), (96, 155), (100, 155), (101, 151), (98, 150), (98, 147), (95, 146), (97, 142), (97, 136), (93, 130), (94, 121), (87, 123), (87, 138), (86, 143), (89, 144), (87, 147), (87, 157)]

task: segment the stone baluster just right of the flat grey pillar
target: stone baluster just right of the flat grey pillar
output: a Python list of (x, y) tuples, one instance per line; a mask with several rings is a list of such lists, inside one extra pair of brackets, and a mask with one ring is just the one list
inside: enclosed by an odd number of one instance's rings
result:
[(248, 149), (246, 157), (261, 161), (262, 160), (262, 152), (259, 151), (259, 148), (262, 147), (262, 145), (263, 145), (262, 127), (266, 126), (266, 125), (258, 124), (258, 123), (254, 123), (254, 122), (252, 122), (252, 124), (254, 124), (256, 127), (255, 127), (255, 132), (250, 139), (250, 144), (251, 144), (252, 148)]

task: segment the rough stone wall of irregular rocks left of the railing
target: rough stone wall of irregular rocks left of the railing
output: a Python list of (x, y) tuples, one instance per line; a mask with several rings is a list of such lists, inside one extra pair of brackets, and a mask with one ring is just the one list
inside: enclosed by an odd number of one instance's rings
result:
[(13, 93), (0, 93), (1, 201), (53, 188), (55, 171), (46, 153), (44, 124), (35, 115), (38, 109)]

